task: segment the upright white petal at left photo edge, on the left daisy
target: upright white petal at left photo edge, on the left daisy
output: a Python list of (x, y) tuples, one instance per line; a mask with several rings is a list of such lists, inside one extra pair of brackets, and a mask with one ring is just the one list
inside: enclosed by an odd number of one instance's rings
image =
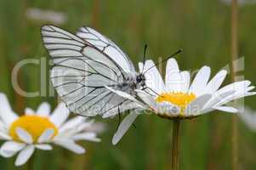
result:
[(9, 105), (9, 100), (5, 94), (0, 94), (0, 104), (0, 116), (4, 123), (10, 125), (18, 118), (18, 116), (14, 113)]

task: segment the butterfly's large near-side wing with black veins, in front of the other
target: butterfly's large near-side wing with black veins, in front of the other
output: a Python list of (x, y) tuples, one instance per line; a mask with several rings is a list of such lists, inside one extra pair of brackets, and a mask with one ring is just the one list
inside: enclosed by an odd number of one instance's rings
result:
[(72, 112), (114, 116), (135, 107), (134, 102), (105, 88), (117, 86), (126, 75), (104, 50), (56, 26), (43, 26), (42, 36), (54, 62), (54, 88)]

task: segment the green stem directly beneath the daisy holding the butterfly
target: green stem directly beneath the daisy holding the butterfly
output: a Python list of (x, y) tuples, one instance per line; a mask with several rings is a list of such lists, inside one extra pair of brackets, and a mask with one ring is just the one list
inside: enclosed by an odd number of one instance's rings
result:
[(179, 170), (179, 128), (180, 121), (173, 122), (172, 170)]

